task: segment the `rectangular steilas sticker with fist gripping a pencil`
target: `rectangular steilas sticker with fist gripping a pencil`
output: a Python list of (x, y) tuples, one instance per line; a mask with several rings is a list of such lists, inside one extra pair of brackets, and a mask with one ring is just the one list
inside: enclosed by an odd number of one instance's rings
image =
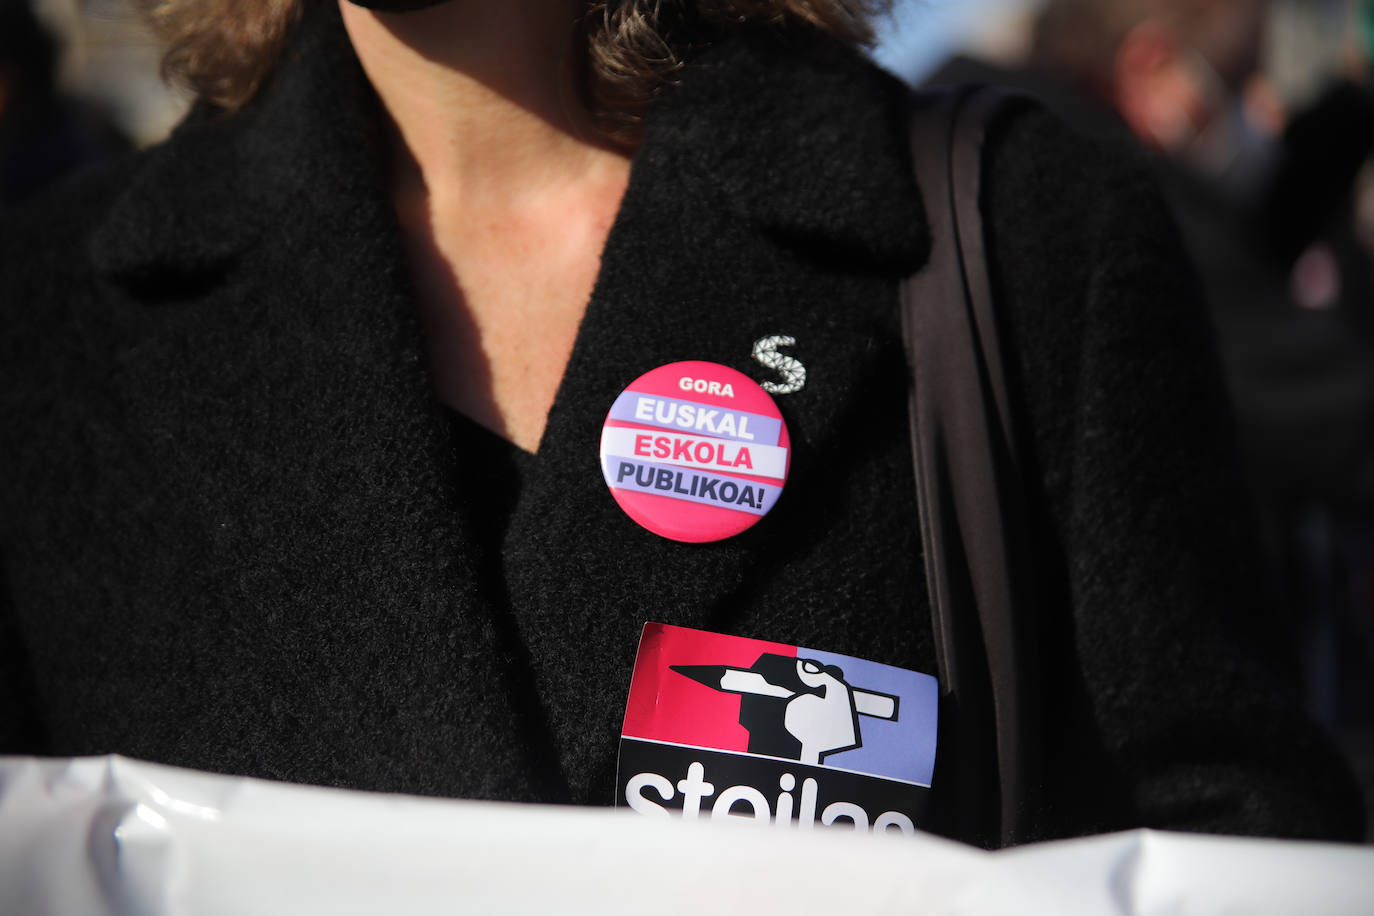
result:
[(650, 817), (929, 829), (940, 684), (837, 652), (646, 623), (616, 803)]

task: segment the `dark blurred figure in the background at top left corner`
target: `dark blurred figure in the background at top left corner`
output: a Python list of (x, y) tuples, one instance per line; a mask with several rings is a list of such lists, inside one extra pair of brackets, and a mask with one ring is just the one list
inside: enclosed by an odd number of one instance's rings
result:
[(58, 91), (58, 58), (29, 0), (0, 0), (0, 209), (129, 148), (107, 118)]

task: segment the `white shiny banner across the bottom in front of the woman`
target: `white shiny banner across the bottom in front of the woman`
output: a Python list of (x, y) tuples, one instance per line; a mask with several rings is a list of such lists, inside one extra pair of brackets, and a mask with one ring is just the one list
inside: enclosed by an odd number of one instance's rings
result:
[(0, 758), (0, 912), (1374, 913), (1374, 849), (1135, 831), (984, 853)]

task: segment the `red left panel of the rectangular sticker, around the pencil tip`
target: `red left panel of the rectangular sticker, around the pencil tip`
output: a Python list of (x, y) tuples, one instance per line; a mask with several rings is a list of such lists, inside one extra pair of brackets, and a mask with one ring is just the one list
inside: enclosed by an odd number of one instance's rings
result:
[(746, 751), (749, 732), (739, 724), (739, 696), (702, 689), (672, 665), (750, 667), (758, 656), (797, 656), (796, 645), (721, 636), (682, 626), (646, 623), (625, 703), (625, 737)]

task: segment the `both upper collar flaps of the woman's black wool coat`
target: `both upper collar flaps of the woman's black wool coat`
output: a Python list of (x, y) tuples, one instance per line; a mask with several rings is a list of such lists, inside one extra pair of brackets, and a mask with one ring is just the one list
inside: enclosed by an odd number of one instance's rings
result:
[[(908, 273), (929, 242), (903, 92), (819, 34), (742, 29), (680, 73), (639, 155), (794, 246)], [(313, 5), (254, 103), (199, 108), (146, 157), (93, 235), (93, 262), (133, 282), (223, 271), (302, 195), (375, 195), (382, 125), (337, 8)]]

